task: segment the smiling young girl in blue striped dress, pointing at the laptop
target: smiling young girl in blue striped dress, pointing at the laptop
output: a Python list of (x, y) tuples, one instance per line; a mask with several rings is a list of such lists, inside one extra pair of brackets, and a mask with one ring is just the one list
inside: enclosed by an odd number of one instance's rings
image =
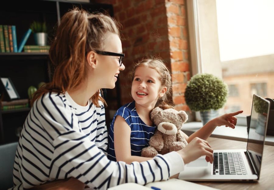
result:
[[(149, 139), (154, 134), (156, 126), (150, 120), (151, 110), (165, 103), (170, 97), (170, 72), (160, 59), (144, 59), (133, 68), (131, 95), (133, 102), (125, 104), (114, 115), (108, 136), (108, 158), (114, 161), (146, 161), (151, 158), (141, 157), (141, 151), (149, 145)], [(216, 126), (226, 125), (235, 128), (237, 118), (242, 113), (227, 113), (209, 121), (205, 126), (185, 139), (190, 143), (195, 137), (206, 140)]]

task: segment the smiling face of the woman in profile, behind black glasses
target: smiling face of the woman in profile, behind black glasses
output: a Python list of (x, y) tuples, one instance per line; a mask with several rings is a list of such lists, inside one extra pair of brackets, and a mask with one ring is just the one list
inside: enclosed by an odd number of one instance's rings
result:
[[(122, 43), (117, 34), (108, 33), (103, 43), (102, 51), (122, 53)], [(97, 61), (101, 72), (101, 88), (114, 88), (120, 70), (124, 70), (125, 66), (120, 66), (119, 56), (105, 56), (97, 54)]]

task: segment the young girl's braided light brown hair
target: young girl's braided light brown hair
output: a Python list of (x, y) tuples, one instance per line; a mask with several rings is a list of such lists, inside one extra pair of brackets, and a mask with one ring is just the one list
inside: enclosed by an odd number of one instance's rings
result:
[(167, 66), (163, 63), (163, 60), (157, 57), (152, 58), (146, 58), (139, 61), (137, 64), (133, 66), (132, 72), (131, 72), (131, 80), (133, 81), (135, 71), (139, 66), (147, 66), (149, 68), (152, 68), (156, 70), (159, 77), (158, 79), (161, 82), (161, 87), (167, 87), (166, 93), (159, 97), (159, 99), (156, 102), (155, 107), (159, 106), (162, 109), (168, 109), (173, 108), (173, 102), (172, 102), (172, 81), (171, 81), (171, 75), (170, 71), (167, 68)]

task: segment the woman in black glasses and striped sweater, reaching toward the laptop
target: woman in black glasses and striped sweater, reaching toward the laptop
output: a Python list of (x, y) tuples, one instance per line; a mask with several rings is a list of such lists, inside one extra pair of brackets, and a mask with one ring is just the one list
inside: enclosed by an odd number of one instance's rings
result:
[[(127, 165), (107, 159), (104, 99), (99, 89), (115, 87), (119, 72), (125, 69), (121, 52), (119, 30), (111, 17), (73, 9), (61, 18), (49, 51), (54, 76), (33, 97), (16, 151), (13, 189), (68, 178), (51, 182), (49, 189), (146, 184), (167, 180), (181, 172), (184, 163), (203, 155), (213, 162), (213, 149), (199, 138), (183, 150), (144, 163)], [(136, 96), (147, 95), (144, 92), (156, 96), (155, 89), (143, 90), (142, 95), (139, 91)], [(161, 94), (165, 91), (163, 88)]]

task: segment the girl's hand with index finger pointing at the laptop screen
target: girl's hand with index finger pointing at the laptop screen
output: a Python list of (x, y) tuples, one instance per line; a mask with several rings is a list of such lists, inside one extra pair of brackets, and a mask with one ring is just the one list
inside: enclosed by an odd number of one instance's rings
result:
[(239, 113), (243, 113), (243, 110), (233, 112), (233, 113), (223, 114), (220, 117), (216, 117), (212, 121), (216, 126), (225, 125), (226, 127), (230, 127), (234, 129), (235, 125), (237, 124), (237, 118), (235, 116), (238, 115)]

